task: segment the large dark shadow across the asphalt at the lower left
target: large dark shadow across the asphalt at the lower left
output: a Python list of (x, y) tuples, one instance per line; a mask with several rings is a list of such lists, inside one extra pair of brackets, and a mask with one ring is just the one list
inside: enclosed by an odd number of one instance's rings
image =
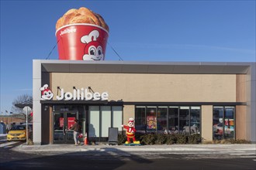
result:
[[(1, 151), (2, 152), (2, 151)], [(2, 155), (0, 169), (124, 169), (129, 162), (136, 164), (150, 164), (152, 161), (139, 155), (132, 155), (117, 148), (90, 149), (87, 151), (73, 151), (65, 154), (54, 152), (24, 153), (12, 151)], [(47, 154), (47, 155), (45, 155)], [(129, 167), (129, 166), (128, 166)]]

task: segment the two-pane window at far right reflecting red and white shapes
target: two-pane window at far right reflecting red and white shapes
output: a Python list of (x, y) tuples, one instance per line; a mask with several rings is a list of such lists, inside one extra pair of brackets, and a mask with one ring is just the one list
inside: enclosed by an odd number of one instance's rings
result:
[(234, 138), (234, 107), (213, 107), (213, 139)]

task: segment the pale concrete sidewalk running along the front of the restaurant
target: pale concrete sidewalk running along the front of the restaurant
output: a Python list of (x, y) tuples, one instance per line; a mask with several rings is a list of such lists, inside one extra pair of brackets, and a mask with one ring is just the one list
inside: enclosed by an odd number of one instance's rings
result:
[(252, 152), (256, 154), (256, 144), (240, 145), (141, 145), (141, 146), (124, 146), (124, 145), (19, 145), (12, 148), (14, 151), (22, 152), (88, 152), (103, 153), (115, 152), (116, 154), (142, 154), (160, 152), (161, 154), (173, 153), (213, 153), (213, 152)]

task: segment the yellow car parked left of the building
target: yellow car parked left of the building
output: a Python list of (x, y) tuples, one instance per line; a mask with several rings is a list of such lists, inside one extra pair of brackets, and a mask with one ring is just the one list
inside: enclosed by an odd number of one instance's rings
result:
[(12, 127), (7, 134), (7, 141), (26, 141), (26, 124)]

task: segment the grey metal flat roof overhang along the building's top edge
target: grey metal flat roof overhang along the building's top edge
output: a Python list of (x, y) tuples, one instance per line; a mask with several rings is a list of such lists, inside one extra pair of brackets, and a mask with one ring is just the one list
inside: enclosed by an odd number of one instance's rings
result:
[(149, 62), (47, 60), (39, 62), (43, 72), (54, 73), (189, 73), (246, 74), (255, 63), (240, 62)]

